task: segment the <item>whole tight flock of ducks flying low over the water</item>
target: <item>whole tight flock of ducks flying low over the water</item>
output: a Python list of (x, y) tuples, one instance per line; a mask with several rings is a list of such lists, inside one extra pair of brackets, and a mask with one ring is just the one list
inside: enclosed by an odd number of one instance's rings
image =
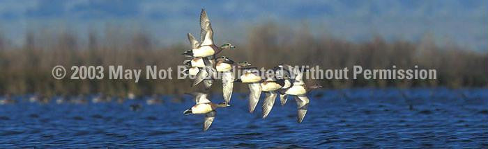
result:
[[(218, 73), (221, 74), (222, 92), (224, 102), (212, 103), (209, 100), (208, 94), (196, 92), (195, 105), (190, 109), (185, 110), (183, 114), (205, 114), (204, 131), (208, 130), (215, 119), (215, 109), (218, 107), (229, 107), (231, 100), (234, 82), (241, 82), (248, 85), (250, 89), (249, 95), (249, 112), (254, 112), (261, 92), (264, 92), (266, 97), (262, 105), (263, 119), (268, 116), (275, 99), (280, 95), (281, 104), (287, 102), (287, 96), (294, 96), (298, 107), (298, 123), (303, 121), (303, 117), (307, 113), (307, 107), (310, 99), (307, 97), (307, 92), (311, 89), (320, 88), (320, 85), (313, 85), (307, 87), (303, 81), (303, 72), (305, 68), (291, 67), (288, 64), (279, 64), (273, 68), (273, 73), (266, 74), (266, 78), (262, 78), (257, 67), (251, 67), (249, 62), (234, 62), (233, 60), (221, 56), (216, 57), (219, 53), (227, 49), (234, 49), (229, 43), (222, 46), (215, 46), (213, 42), (213, 30), (210, 19), (204, 9), (200, 14), (200, 39), (199, 42), (195, 37), (188, 33), (188, 40), (190, 41), (191, 50), (185, 51), (183, 55), (192, 58), (185, 60), (183, 64), (187, 67), (184, 71), (188, 76), (195, 77), (192, 87), (195, 87), (200, 82), (203, 82), (205, 90), (210, 89), (213, 81), (218, 79)], [(233, 69), (241, 69), (243, 74), (240, 78), (234, 77)]]

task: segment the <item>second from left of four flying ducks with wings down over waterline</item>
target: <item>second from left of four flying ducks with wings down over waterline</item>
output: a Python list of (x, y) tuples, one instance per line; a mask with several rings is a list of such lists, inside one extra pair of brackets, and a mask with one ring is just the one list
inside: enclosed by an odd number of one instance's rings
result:
[(234, 80), (234, 82), (247, 83), (250, 93), (249, 93), (249, 112), (254, 112), (254, 109), (259, 102), (261, 97), (261, 76), (257, 67), (244, 67), (243, 75), (240, 78)]

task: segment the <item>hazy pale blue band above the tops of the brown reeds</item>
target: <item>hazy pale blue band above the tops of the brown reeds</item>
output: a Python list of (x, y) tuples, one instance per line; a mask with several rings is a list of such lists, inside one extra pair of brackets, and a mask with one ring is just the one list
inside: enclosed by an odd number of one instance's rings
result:
[(85, 38), (88, 30), (107, 26), (144, 30), (158, 44), (185, 42), (197, 33), (206, 8), (218, 41), (242, 42), (263, 21), (290, 28), (307, 24), (360, 42), (381, 35), (386, 40), (418, 41), (432, 35), (440, 44), (488, 49), (487, 1), (1, 1), (0, 30), (22, 44), (28, 30), (70, 30)]

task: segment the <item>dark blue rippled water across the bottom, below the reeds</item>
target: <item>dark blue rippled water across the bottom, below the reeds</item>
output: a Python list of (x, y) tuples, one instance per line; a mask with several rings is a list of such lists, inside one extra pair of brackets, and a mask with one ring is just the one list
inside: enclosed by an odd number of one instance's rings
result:
[[(294, 100), (279, 101), (267, 119), (245, 96), (219, 109), (207, 132), (203, 115), (183, 116), (193, 101), (144, 100), (86, 105), (0, 106), (0, 148), (361, 147), (487, 148), (488, 89), (344, 89), (314, 91), (303, 123)], [(220, 102), (220, 96), (213, 96)], [(262, 102), (262, 100), (261, 100)], [(131, 111), (129, 105), (142, 109)]]

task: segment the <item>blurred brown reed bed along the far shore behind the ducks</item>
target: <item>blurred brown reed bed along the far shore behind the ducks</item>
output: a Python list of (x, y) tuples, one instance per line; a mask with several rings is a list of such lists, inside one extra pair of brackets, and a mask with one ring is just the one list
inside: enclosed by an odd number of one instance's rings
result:
[[(0, 35), (0, 94), (42, 94), (43, 96), (106, 94), (183, 94), (195, 89), (191, 80), (146, 80), (146, 65), (158, 69), (172, 67), (176, 78), (177, 65), (185, 58), (181, 53), (190, 48), (186, 40), (171, 46), (159, 46), (149, 33), (107, 28), (103, 32), (90, 31), (83, 39), (73, 32), (49, 33), (29, 31), (21, 46), (12, 46)], [(218, 34), (215, 34), (218, 37)], [(321, 69), (437, 69), (437, 80), (307, 80), (326, 88), (349, 87), (487, 87), (486, 52), (471, 51), (455, 45), (437, 45), (428, 37), (420, 42), (386, 41), (374, 37), (367, 42), (350, 42), (322, 34), (312, 35), (306, 26), (292, 30), (286, 26), (266, 23), (250, 28), (246, 40), (237, 49), (224, 51), (235, 61), (247, 60), (258, 67), (271, 68), (281, 62), (319, 65)], [(185, 35), (181, 35), (185, 39)], [(225, 41), (217, 41), (223, 44)], [(66, 67), (63, 80), (52, 77), (56, 65)], [(69, 80), (73, 65), (105, 67), (103, 80)], [(139, 82), (107, 79), (109, 65), (123, 65), (126, 69), (143, 69)], [(351, 77), (350, 77), (351, 78)], [(213, 91), (221, 91), (220, 82)], [(236, 91), (247, 91), (247, 85), (236, 85)]]

